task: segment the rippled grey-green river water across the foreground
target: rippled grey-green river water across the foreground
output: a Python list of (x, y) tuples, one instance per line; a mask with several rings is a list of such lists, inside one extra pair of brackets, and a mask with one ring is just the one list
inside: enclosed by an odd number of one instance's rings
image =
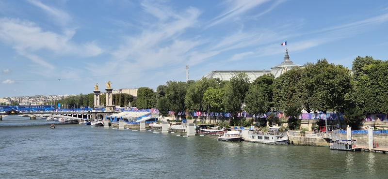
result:
[(0, 121), (0, 178), (388, 178), (388, 155)]

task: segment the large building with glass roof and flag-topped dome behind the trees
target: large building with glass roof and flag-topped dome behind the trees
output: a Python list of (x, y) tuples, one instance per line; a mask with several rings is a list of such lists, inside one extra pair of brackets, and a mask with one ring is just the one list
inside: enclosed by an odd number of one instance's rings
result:
[(283, 73), (291, 70), (293, 68), (302, 67), (301, 65), (295, 64), (290, 60), (290, 56), (288, 55), (288, 50), (286, 49), (286, 55), (284, 55), (284, 61), (280, 64), (271, 68), (271, 70), (221, 70), (221, 71), (212, 71), (208, 75), (204, 77), (207, 78), (220, 78), (221, 80), (229, 81), (232, 76), (237, 75), (238, 73), (244, 72), (249, 77), (249, 81), (254, 81), (261, 75), (272, 74), (275, 78), (279, 77)]

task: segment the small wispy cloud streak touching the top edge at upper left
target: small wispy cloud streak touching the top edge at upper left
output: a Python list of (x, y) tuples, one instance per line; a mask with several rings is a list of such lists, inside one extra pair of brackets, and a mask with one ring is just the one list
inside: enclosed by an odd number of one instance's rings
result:
[(65, 26), (71, 21), (71, 16), (63, 10), (46, 5), (39, 0), (28, 0), (28, 2), (45, 11), (57, 24)]

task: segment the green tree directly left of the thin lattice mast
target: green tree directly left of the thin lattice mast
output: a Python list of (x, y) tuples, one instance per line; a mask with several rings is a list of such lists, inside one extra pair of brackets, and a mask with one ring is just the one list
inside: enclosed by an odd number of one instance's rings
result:
[(187, 83), (181, 81), (168, 81), (166, 97), (170, 109), (175, 112), (175, 116), (178, 117), (180, 112), (181, 118), (184, 118), (184, 111), (186, 110), (185, 106), (185, 97), (187, 91)]

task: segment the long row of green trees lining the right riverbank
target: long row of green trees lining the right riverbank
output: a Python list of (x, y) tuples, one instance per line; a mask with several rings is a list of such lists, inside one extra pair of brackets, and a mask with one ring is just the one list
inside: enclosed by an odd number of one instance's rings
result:
[(352, 70), (317, 60), (274, 78), (262, 75), (250, 82), (241, 73), (229, 81), (202, 78), (189, 83), (168, 81), (156, 92), (138, 90), (139, 108), (230, 112), (233, 118), (246, 111), (255, 116), (282, 111), (295, 120), (302, 109), (345, 114), (346, 122), (357, 124), (367, 113), (388, 113), (388, 62), (372, 57), (357, 57)]

